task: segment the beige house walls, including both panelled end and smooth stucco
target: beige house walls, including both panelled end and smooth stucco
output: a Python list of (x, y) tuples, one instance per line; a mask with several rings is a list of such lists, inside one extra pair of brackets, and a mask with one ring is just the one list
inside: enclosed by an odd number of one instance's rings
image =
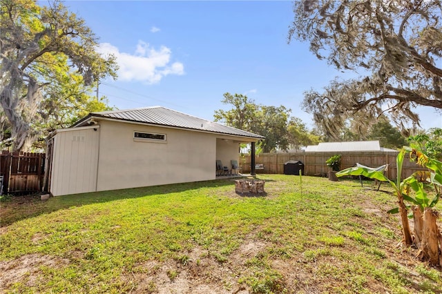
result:
[[(135, 131), (164, 134), (166, 141), (134, 139)], [(59, 130), (53, 139), (55, 196), (215, 179), (215, 161), (231, 168), (240, 143), (231, 135), (111, 120)]]

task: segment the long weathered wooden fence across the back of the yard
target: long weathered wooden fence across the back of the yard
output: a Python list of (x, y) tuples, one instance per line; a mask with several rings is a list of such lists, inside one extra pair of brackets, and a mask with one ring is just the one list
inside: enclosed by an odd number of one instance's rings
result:
[[(389, 179), (396, 179), (396, 152), (370, 151), (370, 152), (298, 152), (298, 153), (261, 153), (256, 157), (256, 164), (264, 166), (256, 173), (284, 173), (284, 164), (289, 160), (299, 160), (304, 164), (305, 175), (326, 176), (330, 168), (325, 161), (333, 155), (341, 155), (341, 169), (349, 168), (356, 165), (356, 162), (369, 167), (378, 167), (388, 164), (388, 170), (385, 175)], [(240, 158), (243, 173), (250, 173), (250, 155)], [(410, 176), (416, 170), (426, 170), (421, 168), (414, 162), (405, 159), (403, 163), (402, 178)]]

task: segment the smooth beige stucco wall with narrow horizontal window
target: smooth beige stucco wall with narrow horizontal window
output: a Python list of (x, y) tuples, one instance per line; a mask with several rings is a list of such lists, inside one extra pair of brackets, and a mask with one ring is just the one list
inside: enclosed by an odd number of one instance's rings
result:
[[(99, 124), (97, 190), (215, 179), (215, 135), (115, 121)], [(134, 139), (135, 131), (164, 134), (166, 142)]]

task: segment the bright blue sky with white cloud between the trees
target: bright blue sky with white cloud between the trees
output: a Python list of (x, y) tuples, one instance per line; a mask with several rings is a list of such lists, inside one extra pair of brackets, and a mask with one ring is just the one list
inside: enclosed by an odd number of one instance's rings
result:
[[(229, 109), (224, 92), (257, 104), (286, 106), (310, 128), (302, 92), (321, 91), (338, 72), (309, 52), (287, 44), (291, 1), (65, 1), (112, 52), (119, 79), (99, 86), (119, 109), (164, 106), (213, 120)], [(432, 108), (419, 110), (423, 128), (441, 127)]]

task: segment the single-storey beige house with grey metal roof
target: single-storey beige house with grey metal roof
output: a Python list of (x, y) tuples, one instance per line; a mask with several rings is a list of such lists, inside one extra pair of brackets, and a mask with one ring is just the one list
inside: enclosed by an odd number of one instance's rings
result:
[[(161, 106), (92, 112), (48, 137), (52, 195), (215, 179), (260, 135)], [(254, 153), (254, 152), (253, 152)], [(252, 170), (252, 173), (254, 170)]]

